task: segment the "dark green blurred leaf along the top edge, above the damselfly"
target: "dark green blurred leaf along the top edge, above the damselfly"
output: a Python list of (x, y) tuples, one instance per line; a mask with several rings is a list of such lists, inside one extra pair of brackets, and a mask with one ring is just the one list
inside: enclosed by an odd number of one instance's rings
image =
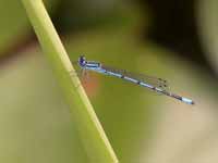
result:
[[(72, 14), (73, 11), (73, 14)], [(75, 33), (99, 27), (133, 29), (142, 22), (141, 10), (134, 3), (114, 0), (63, 0), (53, 17), (59, 30)]]

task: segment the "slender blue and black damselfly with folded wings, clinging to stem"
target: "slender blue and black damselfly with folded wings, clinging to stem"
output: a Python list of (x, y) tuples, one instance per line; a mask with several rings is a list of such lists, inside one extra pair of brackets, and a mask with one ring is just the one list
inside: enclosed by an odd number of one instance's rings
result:
[(111, 68), (111, 67), (105, 66), (100, 62), (86, 61), (84, 55), (81, 55), (78, 58), (77, 64), (84, 71), (88, 70), (88, 71), (94, 71), (96, 73), (122, 78), (124, 80), (131, 82), (131, 83), (140, 85), (142, 87), (146, 87), (146, 88), (148, 88), (153, 91), (156, 91), (160, 95), (166, 95), (168, 97), (174, 98), (174, 99), (180, 100), (187, 104), (194, 104), (193, 100), (168, 91), (167, 90), (168, 84), (165, 79), (146, 76), (146, 75), (142, 75), (142, 74), (137, 75), (137, 74), (129, 73), (124, 70)]

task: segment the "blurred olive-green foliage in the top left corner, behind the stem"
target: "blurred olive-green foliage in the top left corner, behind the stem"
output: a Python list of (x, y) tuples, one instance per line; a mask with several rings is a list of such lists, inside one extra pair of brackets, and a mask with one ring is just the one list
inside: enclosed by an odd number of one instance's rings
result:
[[(48, 10), (53, 10), (57, 0), (46, 0), (45, 2)], [(9, 48), (27, 39), (31, 26), (19, 0), (0, 0), (0, 55), (2, 55)]]

